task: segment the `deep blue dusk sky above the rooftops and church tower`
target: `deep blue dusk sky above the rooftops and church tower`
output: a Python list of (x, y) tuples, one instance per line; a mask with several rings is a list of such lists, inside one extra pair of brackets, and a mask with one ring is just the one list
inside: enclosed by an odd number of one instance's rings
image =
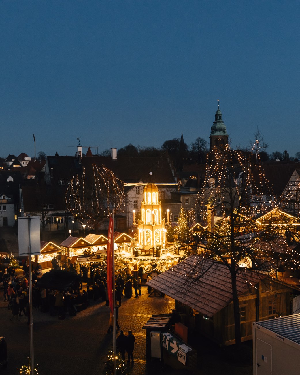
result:
[[(299, 145), (300, 1), (3, 0), (0, 156), (209, 141)], [(83, 151), (85, 152), (86, 149)], [(92, 149), (95, 152), (94, 149)]]

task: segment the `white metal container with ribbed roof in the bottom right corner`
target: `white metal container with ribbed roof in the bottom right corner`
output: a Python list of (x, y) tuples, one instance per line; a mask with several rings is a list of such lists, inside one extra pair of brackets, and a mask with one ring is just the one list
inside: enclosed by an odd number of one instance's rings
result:
[(253, 374), (300, 374), (300, 314), (253, 323)]

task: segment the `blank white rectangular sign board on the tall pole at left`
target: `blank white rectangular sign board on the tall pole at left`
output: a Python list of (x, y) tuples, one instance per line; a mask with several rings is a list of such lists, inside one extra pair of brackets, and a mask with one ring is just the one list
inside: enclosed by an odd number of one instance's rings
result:
[(24, 216), (18, 218), (19, 256), (29, 254), (29, 222), (31, 231), (31, 255), (40, 254), (40, 218)]

